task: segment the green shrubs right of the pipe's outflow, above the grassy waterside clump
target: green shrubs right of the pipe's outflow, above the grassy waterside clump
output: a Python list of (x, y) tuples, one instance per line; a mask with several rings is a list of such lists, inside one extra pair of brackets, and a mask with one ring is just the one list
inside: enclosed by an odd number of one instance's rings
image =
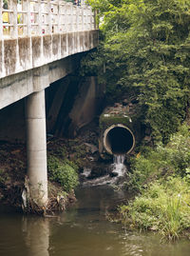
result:
[(155, 149), (145, 148), (145, 152), (131, 162), (132, 175), (129, 187), (141, 187), (161, 176), (177, 174), (181, 177), (189, 175), (190, 166), (190, 131), (182, 125), (170, 142)]

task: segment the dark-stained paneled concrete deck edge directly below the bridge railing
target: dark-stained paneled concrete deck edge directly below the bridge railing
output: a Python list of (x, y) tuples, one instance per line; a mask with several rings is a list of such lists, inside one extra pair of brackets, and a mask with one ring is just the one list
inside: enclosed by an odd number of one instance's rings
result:
[(97, 46), (98, 30), (0, 39), (0, 79)]

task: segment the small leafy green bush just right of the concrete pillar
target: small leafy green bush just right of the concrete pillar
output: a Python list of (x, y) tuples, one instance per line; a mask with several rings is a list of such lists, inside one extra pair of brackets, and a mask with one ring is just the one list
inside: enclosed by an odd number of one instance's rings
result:
[(49, 179), (58, 182), (66, 192), (78, 184), (78, 167), (73, 162), (50, 155), (47, 159)]

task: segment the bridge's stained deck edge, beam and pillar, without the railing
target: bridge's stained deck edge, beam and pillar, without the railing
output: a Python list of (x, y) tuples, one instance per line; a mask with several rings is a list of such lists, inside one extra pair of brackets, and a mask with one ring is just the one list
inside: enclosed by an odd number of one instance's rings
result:
[[(53, 46), (56, 40), (57, 48), (56, 44)], [(27, 39), (24, 44), (28, 44)], [(29, 194), (39, 207), (44, 208), (47, 204), (45, 89), (53, 82), (74, 73), (79, 66), (80, 52), (97, 45), (98, 30), (67, 33), (65, 39), (55, 34), (32, 38), (29, 49), (19, 40), (0, 42), (0, 61), (3, 63), (0, 67), (0, 109), (27, 97)]]

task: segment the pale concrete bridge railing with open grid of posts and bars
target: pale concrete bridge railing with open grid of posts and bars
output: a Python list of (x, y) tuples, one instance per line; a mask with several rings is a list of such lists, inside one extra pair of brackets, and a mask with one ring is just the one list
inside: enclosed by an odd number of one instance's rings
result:
[(95, 30), (94, 12), (84, 2), (0, 0), (0, 39)]

